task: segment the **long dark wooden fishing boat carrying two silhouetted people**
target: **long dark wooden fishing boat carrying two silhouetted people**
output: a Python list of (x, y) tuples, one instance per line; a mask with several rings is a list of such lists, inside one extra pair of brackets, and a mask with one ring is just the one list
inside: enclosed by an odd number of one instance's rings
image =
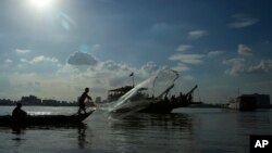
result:
[(74, 115), (27, 115), (17, 119), (11, 115), (0, 116), (0, 126), (36, 126), (36, 125), (69, 125), (79, 124), (87, 118), (95, 110), (84, 114)]

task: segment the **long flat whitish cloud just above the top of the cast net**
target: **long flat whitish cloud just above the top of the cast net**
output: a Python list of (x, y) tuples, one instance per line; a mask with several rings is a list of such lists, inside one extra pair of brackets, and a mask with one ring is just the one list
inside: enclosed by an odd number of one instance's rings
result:
[(180, 61), (187, 64), (201, 64), (203, 54), (173, 54), (169, 58), (171, 61)]

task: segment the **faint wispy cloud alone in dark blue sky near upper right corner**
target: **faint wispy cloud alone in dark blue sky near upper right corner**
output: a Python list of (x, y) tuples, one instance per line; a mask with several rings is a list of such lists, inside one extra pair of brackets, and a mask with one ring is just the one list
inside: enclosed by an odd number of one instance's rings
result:
[(243, 28), (259, 22), (259, 20), (249, 17), (245, 14), (236, 14), (233, 16), (233, 18), (235, 21), (228, 25), (231, 28)]

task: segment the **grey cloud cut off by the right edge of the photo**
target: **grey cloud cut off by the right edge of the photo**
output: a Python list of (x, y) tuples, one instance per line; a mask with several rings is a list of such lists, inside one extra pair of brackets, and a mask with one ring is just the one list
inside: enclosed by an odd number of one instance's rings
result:
[(261, 60), (258, 65), (250, 66), (248, 73), (269, 73), (272, 69), (272, 60)]

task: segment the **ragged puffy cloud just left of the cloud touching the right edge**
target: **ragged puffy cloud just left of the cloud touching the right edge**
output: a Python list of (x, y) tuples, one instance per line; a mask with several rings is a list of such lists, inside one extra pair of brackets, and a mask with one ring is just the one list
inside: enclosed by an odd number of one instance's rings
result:
[(225, 74), (231, 75), (231, 76), (238, 76), (242, 73), (246, 72), (245, 67), (245, 59), (236, 58), (236, 59), (230, 59), (230, 60), (224, 60), (222, 63), (225, 65), (231, 65), (231, 68), (227, 68), (225, 71)]

